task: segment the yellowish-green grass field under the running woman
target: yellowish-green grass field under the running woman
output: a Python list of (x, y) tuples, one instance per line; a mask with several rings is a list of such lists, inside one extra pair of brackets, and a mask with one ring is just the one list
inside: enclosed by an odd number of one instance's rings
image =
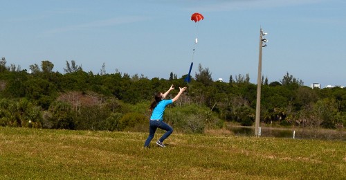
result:
[(0, 127), (0, 179), (346, 179), (345, 141)]

